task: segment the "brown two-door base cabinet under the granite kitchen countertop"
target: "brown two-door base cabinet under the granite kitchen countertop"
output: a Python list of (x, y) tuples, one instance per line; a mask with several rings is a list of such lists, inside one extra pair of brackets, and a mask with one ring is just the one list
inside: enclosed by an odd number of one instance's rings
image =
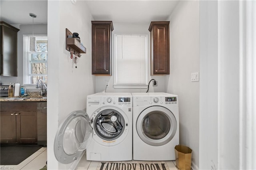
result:
[(2, 102), (0, 123), (1, 143), (36, 143), (37, 103)]

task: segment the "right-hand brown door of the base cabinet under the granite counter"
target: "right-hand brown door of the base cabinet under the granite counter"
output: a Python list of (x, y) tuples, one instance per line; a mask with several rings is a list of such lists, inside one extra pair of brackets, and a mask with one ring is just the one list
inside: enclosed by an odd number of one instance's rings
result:
[(19, 111), (16, 115), (17, 142), (37, 142), (37, 114), (36, 111)]

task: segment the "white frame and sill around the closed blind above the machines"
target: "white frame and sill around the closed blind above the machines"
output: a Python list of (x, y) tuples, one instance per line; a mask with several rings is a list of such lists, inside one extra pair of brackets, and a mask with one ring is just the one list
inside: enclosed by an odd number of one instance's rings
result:
[[(118, 84), (117, 83), (117, 36), (145, 36), (145, 84)], [(115, 89), (147, 89), (148, 88), (148, 34), (114, 34), (114, 88)]]

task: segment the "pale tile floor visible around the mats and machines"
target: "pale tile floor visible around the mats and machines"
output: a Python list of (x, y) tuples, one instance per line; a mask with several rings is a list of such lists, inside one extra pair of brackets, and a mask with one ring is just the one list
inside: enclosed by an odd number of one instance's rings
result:
[[(1, 165), (0, 169), (2, 170), (39, 170), (43, 168), (47, 160), (47, 148), (40, 148), (34, 154), (26, 158), (23, 162), (18, 165)], [(132, 161), (136, 162), (136, 161)], [(177, 170), (174, 161), (165, 161), (170, 170)], [(77, 170), (96, 170), (98, 166), (97, 161), (88, 161), (86, 160), (86, 154), (80, 160)]]

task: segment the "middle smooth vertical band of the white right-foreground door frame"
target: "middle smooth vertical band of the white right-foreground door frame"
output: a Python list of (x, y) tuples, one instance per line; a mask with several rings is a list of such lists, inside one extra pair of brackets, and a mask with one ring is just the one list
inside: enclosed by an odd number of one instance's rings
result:
[[(240, 8), (239, 1), (218, 2), (219, 169), (240, 169)], [(244, 116), (243, 116), (244, 117)]]

